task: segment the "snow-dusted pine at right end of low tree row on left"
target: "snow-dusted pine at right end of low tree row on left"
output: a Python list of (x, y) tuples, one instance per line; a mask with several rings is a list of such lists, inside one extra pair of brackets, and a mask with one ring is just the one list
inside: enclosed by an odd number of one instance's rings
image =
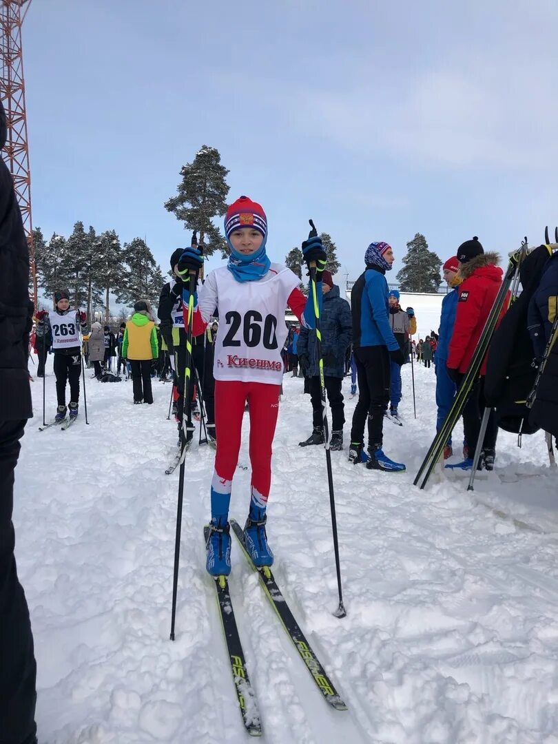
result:
[(149, 246), (141, 237), (135, 237), (131, 243), (124, 243), (123, 252), (126, 269), (117, 292), (118, 301), (131, 306), (138, 300), (147, 300), (155, 306), (165, 280)]

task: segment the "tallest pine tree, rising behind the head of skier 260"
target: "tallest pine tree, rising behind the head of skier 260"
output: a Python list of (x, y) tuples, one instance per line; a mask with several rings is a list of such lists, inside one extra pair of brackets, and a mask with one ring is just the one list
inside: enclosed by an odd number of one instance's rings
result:
[(164, 208), (184, 222), (185, 230), (198, 231), (206, 255), (211, 256), (216, 250), (226, 254), (225, 239), (211, 222), (227, 211), (225, 200), (229, 186), (225, 179), (228, 170), (221, 165), (219, 150), (203, 145), (193, 162), (182, 166), (180, 175), (182, 182), (177, 187), (178, 194), (167, 199)]

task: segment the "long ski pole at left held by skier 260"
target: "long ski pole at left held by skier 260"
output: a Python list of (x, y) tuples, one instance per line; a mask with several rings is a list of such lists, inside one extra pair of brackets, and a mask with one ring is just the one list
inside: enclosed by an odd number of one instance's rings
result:
[[(192, 235), (192, 247), (197, 246), (196, 231)], [(182, 405), (182, 427), (180, 429), (180, 474), (179, 474), (179, 497), (176, 506), (176, 536), (174, 542), (174, 571), (173, 571), (173, 606), (170, 615), (170, 640), (174, 641), (174, 625), (176, 620), (176, 595), (179, 588), (179, 560), (180, 560), (180, 533), (182, 531), (182, 503), (184, 500), (184, 477), (186, 456), (186, 428), (191, 418), (190, 383), (192, 375), (192, 331), (193, 331), (193, 295), (196, 291), (196, 272), (190, 270), (188, 279), (188, 315), (186, 330), (186, 359), (184, 373), (184, 403)]]

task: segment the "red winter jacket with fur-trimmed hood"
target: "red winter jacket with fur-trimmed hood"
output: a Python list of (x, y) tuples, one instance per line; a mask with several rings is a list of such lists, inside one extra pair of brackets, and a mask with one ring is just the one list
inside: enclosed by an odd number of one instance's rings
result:
[[(464, 373), (469, 367), (478, 339), (481, 338), (484, 324), (501, 286), (504, 272), (496, 266), (499, 259), (497, 253), (483, 253), (465, 263), (459, 270), (464, 281), (458, 288), (458, 310), (455, 315), (452, 338), (449, 341), (447, 366), (450, 369)], [(503, 310), (502, 315), (504, 312)], [(485, 356), (481, 375), (486, 373), (487, 358)]]

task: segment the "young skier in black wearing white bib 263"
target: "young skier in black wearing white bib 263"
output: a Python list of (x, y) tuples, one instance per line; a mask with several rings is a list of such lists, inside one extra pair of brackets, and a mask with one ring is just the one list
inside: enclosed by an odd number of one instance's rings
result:
[(70, 310), (70, 295), (65, 289), (54, 292), (54, 310), (39, 310), (38, 324), (44, 324), (44, 332), (52, 336), (54, 352), (54, 375), (57, 379), (57, 423), (66, 417), (66, 382), (70, 383), (70, 418), (78, 413), (80, 400), (81, 339), (86, 333), (85, 312)]

